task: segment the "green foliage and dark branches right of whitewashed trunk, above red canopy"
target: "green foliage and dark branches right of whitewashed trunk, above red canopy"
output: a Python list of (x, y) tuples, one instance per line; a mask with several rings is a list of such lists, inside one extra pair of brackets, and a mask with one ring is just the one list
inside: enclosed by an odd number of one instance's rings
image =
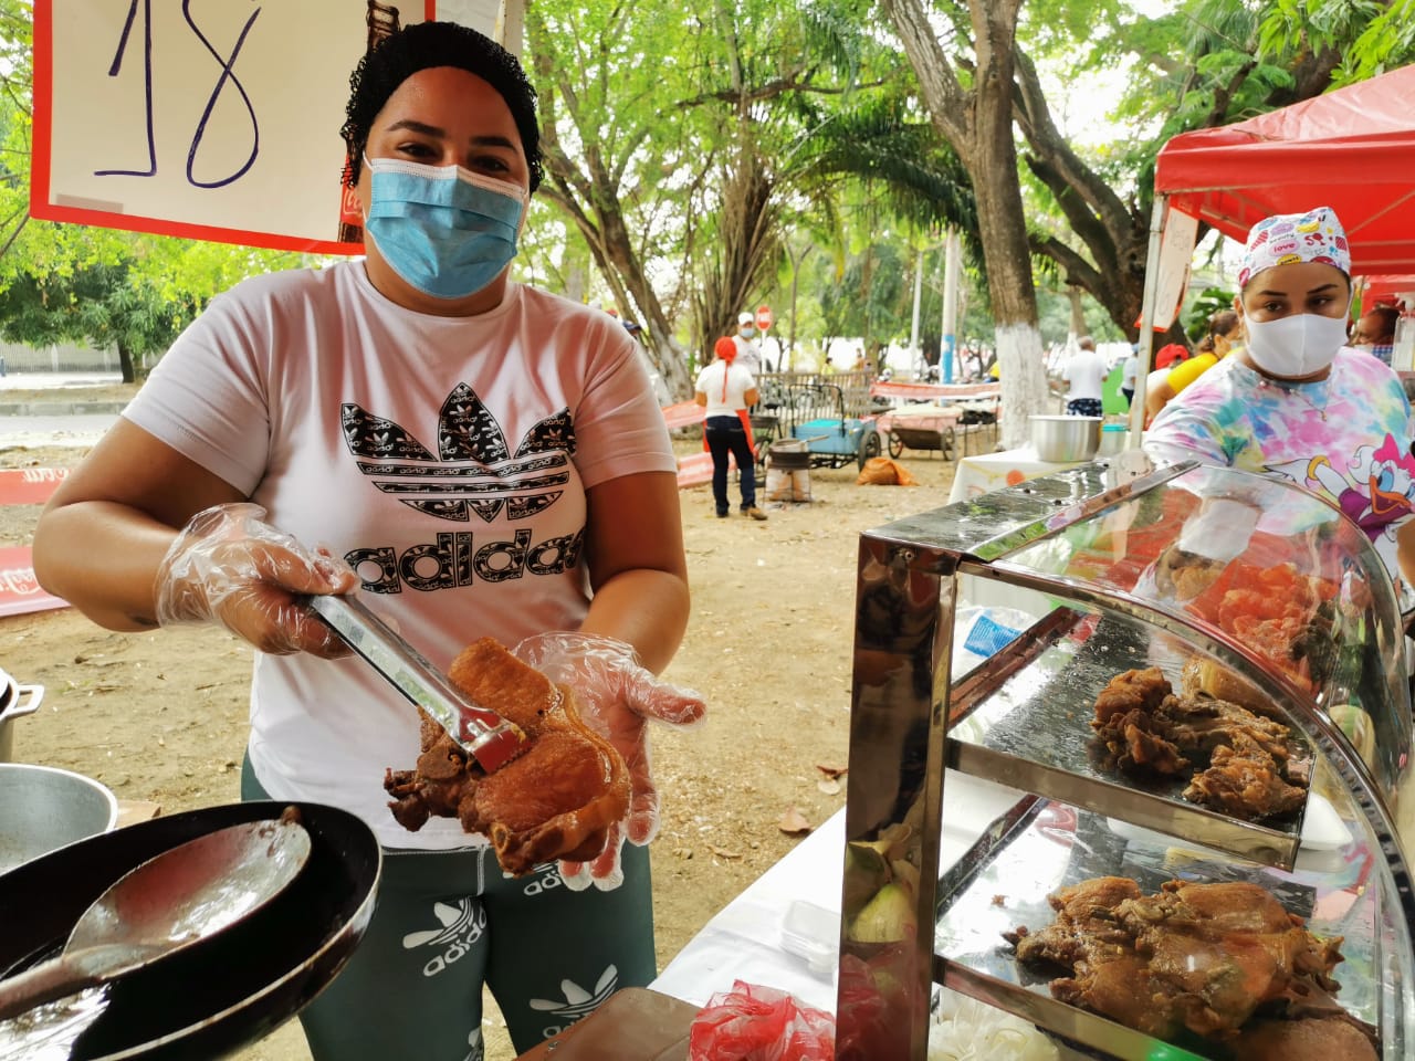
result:
[[(1029, 11), (1033, 33), (1023, 48), (1036, 45), (1039, 57), (1070, 48), (1074, 83), (1116, 65), (1132, 71), (1112, 113), (1128, 134), (1078, 150), (1057, 132), (1030, 58), (1017, 64), (1024, 161), (1046, 188), (1030, 219), (1032, 248), (1132, 337), (1143, 296), (1155, 158), (1170, 137), (1310, 99), (1415, 59), (1411, 0), (1182, 0), (1159, 17), (1118, 4), (1082, 34), (1057, 17), (1050, 0)], [(1179, 324), (1169, 338), (1182, 338)]]

